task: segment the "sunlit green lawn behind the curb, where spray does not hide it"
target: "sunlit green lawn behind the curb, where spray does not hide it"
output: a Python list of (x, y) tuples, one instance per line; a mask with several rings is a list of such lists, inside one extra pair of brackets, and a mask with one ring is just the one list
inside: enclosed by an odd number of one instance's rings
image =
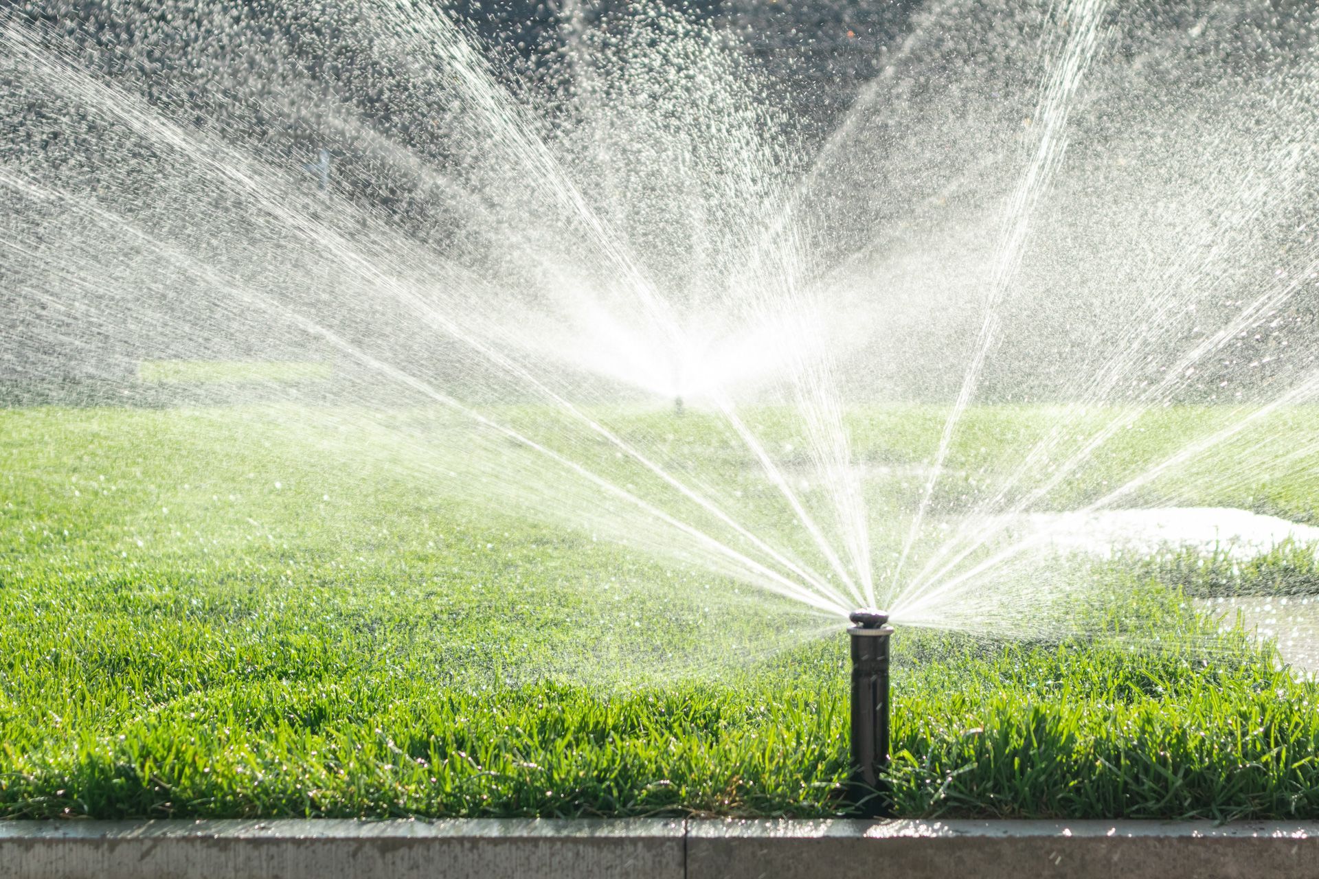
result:
[[(1159, 418), (1128, 457), (1219, 414)], [(972, 412), (954, 468), (973, 478), (1031, 422)], [(0, 816), (845, 810), (838, 623), (278, 424), (0, 411)], [(674, 430), (725, 447), (699, 415)], [(859, 455), (901, 463), (936, 431), (880, 412)], [(1298, 473), (1187, 485), (1302, 518)], [(1278, 564), (1312, 573), (1307, 552)], [(1319, 685), (1182, 592), (1286, 572), (1207, 564), (1097, 568), (1112, 601), (1084, 638), (901, 631), (898, 812), (1319, 817)]]

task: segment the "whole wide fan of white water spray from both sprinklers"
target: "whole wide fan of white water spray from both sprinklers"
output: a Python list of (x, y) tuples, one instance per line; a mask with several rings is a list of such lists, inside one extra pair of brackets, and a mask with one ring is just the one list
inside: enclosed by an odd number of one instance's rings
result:
[[(539, 82), (419, 0), (162, 1), (195, 45), (121, 0), (115, 45), (0, 13), (5, 393), (15, 364), (127, 399), (138, 364), (315, 361), (233, 416), (835, 631), (1055, 625), (1086, 585), (1020, 517), (1208, 485), (1225, 449), (1207, 492), (1249, 503), (1316, 448), (1253, 432), (1319, 387), (1312, 12), (939, 0), (810, 154), (695, 13), (570, 4)], [(1144, 441), (1161, 407), (1191, 427)]]

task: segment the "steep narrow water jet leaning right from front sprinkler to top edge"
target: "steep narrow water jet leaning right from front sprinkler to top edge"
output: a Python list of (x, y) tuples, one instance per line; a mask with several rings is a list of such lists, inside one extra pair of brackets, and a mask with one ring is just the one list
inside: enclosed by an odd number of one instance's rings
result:
[(1071, 33), (1066, 40), (1060, 57), (1053, 63), (1053, 69), (1045, 82), (1043, 94), (1035, 111), (1035, 117), (1041, 120), (1035, 153), (1004, 213), (1004, 227), (1000, 232), (993, 274), (989, 279), (989, 291), (984, 304), (985, 314), (979, 335), (976, 336), (975, 352), (963, 374), (958, 398), (939, 435), (939, 447), (934, 456), (934, 465), (925, 482), (917, 513), (911, 519), (911, 526), (902, 543), (898, 563), (890, 577), (893, 582), (898, 581), (902, 567), (906, 564), (911, 547), (921, 532), (921, 526), (930, 507), (930, 499), (934, 496), (934, 486), (942, 474), (943, 463), (952, 444), (952, 436), (956, 432), (962, 414), (971, 402), (971, 395), (979, 383), (985, 358), (997, 337), (998, 303), (1021, 265), (1034, 207), (1053, 182), (1054, 171), (1062, 162), (1063, 153), (1066, 152), (1070, 105), (1099, 47), (1099, 22), (1107, 11), (1107, 0), (1070, 0), (1062, 9), (1060, 17), (1070, 24)]

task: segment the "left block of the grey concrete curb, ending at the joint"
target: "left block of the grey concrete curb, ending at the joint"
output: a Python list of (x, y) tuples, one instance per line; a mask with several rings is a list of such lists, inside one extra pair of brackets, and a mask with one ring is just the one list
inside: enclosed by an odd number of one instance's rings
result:
[(683, 875), (681, 820), (0, 822), (3, 879)]

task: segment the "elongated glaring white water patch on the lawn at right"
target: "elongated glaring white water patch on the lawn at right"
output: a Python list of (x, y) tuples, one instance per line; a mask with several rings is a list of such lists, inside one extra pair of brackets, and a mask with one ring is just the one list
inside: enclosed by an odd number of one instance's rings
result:
[(1029, 513), (1010, 528), (1041, 548), (1097, 556), (1190, 548), (1249, 559), (1287, 539), (1319, 542), (1319, 527), (1219, 506)]

